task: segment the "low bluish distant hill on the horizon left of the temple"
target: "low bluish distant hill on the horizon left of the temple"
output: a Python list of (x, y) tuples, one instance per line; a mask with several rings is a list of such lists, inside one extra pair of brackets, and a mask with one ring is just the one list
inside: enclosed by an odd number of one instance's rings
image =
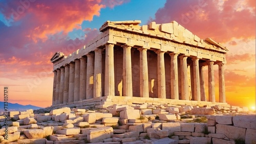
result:
[[(27, 109), (40, 109), (42, 107), (34, 106), (34, 105), (21, 105), (18, 103), (8, 103), (8, 111), (24, 111)], [(4, 111), (4, 102), (0, 101), (0, 111)]]

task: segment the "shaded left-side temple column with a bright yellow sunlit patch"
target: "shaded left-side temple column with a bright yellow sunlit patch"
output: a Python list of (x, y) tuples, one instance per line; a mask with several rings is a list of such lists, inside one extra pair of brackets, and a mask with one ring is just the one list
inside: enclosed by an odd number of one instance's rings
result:
[(86, 99), (93, 98), (93, 73), (94, 73), (94, 53), (88, 53), (87, 55), (87, 73), (86, 73)]

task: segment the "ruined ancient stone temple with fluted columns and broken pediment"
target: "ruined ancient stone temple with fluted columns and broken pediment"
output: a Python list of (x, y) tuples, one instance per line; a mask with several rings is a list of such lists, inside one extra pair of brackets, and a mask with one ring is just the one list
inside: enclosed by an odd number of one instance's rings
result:
[[(56, 52), (51, 59), (52, 106), (226, 104), (226, 47), (210, 38), (200, 39), (176, 21), (139, 23), (106, 21), (101, 33), (83, 48), (67, 56)], [(214, 65), (219, 69), (219, 94)]]

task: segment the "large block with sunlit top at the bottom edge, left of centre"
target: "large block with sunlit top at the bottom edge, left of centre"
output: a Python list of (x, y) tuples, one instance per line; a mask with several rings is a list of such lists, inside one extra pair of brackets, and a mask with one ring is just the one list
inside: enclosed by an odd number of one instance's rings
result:
[(111, 138), (111, 133), (113, 134), (112, 127), (89, 130), (87, 140), (90, 142), (102, 142), (104, 139)]

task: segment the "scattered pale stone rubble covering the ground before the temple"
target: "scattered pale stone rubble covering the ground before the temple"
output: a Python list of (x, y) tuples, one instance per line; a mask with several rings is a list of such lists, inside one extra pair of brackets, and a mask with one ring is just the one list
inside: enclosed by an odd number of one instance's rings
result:
[(134, 104), (44, 110), (50, 111), (10, 111), (8, 140), (5, 118), (0, 116), (2, 143), (233, 144), (239, 138), (256, 142), (256, 115), (247, 107)]

